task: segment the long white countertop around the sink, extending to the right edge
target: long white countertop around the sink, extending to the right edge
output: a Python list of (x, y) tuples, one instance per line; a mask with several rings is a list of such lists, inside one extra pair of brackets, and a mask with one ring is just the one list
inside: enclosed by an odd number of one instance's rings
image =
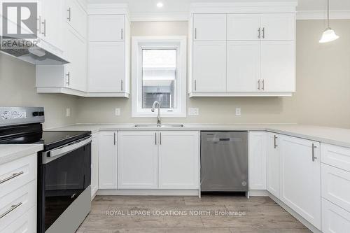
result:
[[(142, 124), (141, 124), (142, 125)], [(209, 130), (209, 131), (267, 131), (277, 134), (286, 134), (289, 136), (297, 136), (303, 139), (330, 143), (337, 146), (350, 148), (350, 129), (334, 128), (334, 127), (318, 127), (312, 125), (295, 125), (295, 124), (183, 124), (184, 127), (135, 127), (135, 124), (76, 124), (66, 127), (45, 130), (89, 130), (92, 134), (99, 131), (141, 131), (141, 130)]]

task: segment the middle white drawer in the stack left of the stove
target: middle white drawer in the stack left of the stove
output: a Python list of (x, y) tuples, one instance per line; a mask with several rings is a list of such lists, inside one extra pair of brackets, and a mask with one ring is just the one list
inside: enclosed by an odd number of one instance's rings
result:
[(0, 198), (0, 231), (36, 206), (36, 180)]

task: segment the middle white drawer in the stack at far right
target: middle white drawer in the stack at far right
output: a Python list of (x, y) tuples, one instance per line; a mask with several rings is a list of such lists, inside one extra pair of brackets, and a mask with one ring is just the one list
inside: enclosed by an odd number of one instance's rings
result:
[(321, 164), (322, 197), (350, 211), (350, 172)]

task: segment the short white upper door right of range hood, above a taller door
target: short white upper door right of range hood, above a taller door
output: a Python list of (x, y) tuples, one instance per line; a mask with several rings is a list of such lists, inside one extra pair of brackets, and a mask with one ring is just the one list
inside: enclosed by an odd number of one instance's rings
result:
[(66, 0), (66, 22), (80, 36), (83, 36), (83, 38), (87, 37), (87, 13), (80, 6), (78, 0)]

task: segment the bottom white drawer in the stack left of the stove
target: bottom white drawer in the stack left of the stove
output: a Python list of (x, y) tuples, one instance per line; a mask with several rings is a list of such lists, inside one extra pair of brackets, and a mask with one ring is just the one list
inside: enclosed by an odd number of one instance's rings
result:
[(32, 207), (24, 215), (17, 218), (13, 223), (10, 223), (0, 233), (12, 233), (12, 232), (36, 232), (36, 207)]

